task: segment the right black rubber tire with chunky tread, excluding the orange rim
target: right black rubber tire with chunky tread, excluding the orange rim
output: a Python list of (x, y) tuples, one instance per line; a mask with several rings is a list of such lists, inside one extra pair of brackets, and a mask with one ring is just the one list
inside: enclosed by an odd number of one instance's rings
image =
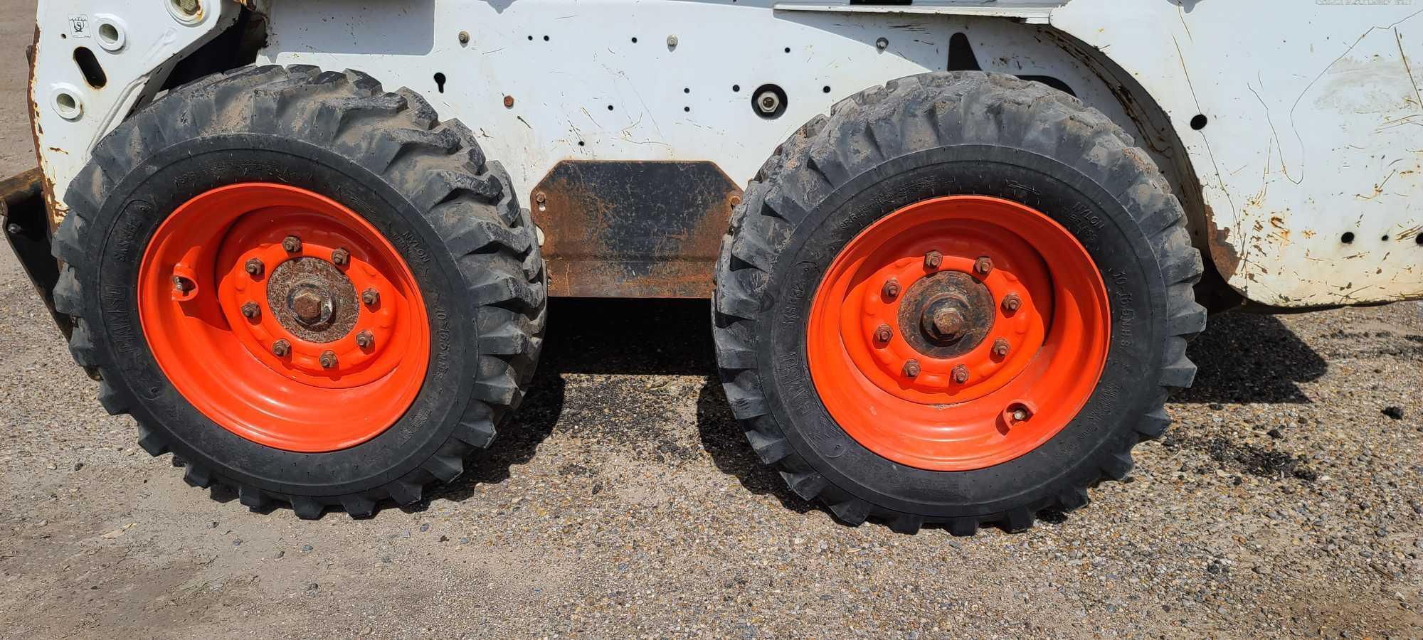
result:
[[(835, 424), (811, 381), (805, 327), (825, 269), (862, 229), (965, 193), (1022, 202), (1066, 226), (1103, 273), (1113, 340), (1101, 383), (1059, 435), (989, 468), (925, 471)], [(841, 101), (751, 181), (717, 260), (716, 357), (760, 459), (841, 521), (1020, 530), (1043, 509), (1083, 506), (1089, 486), (1123, 478), (1131, 448), (1170, 424), (1163, 404), (1191, 384), (1185, 343), (1205, 327), (1192, 293), (1201, 272), (1170, 185), (1107, 117), (1007, 75), (915, 75)]]

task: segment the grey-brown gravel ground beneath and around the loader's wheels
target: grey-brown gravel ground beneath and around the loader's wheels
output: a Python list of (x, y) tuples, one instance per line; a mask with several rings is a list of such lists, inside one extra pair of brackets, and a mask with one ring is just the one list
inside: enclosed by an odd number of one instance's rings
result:
[[(30, 14), (0, 0), (4, 174)], [(0, 252), (0, 636), (1423, 637), (1419, 304), (1212, 319), (1126, 482), (968, 539), (785, 491), (712, 383), (704, 303), (551, 313), (475, 472), (305, 522), (138, 451)]]

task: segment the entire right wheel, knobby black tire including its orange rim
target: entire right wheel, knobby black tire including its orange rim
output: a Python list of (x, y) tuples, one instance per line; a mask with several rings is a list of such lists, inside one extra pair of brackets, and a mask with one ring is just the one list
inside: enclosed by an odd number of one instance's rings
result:
[[(797, 131), (716, 272), (720, 375), (761, 461), (847, 523), (955, 535), (1029, 528), (1123, 478), (1205, 324), (1181, 205), (1131, 145), (1073, 97), (978, 73), (892, 81)], [(976, 266), (993, 252), (996, 272)], [(1037, 334), (1003, 333), (1019, 292), (1057, 302)]]

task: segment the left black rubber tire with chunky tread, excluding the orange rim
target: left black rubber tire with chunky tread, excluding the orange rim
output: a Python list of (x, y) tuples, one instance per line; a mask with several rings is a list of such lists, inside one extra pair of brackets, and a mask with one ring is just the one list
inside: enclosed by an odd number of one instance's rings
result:
[[(387, 431), (322, 454), (263, 447), (198, 412), (158, 368), (138, 319), (139, 259), (158, 223), (208, 189), (282, 182), (360, 212), (406, 260), (430, 316), (420, 394)], [(102, 377), (110, 414), (139, 445), (172, 452), (195, 486), (233, 488), (252, 509), (290, 503), (369, 516), (453, 481), (490, 445), (534, 374), (545, 272), (529, 213), (474, 135), (410, 90), (359, 71), (246, 67), (174, 90), (107, 135), (64, 198), (55, 307), (70, 351)]]

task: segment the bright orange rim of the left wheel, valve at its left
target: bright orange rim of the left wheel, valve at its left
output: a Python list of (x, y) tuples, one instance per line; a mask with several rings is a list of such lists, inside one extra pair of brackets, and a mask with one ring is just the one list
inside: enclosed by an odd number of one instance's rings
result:
[(144, 252), (138, 300), (178, 393), (268, 447), (366, 442), (404, 415), (428, 367), (424, 302), (394, 246), (295, 186), (229, 185), (175, 209)]

